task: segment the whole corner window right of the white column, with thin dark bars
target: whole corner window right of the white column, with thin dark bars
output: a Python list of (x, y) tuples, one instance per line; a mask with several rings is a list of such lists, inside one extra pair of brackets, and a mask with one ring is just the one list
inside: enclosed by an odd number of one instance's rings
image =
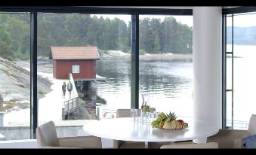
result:
[(228, 14), (226, 17), (226, 106), (225, 127), (248, 129), (255, 114), (256, 99), (256, 14)]

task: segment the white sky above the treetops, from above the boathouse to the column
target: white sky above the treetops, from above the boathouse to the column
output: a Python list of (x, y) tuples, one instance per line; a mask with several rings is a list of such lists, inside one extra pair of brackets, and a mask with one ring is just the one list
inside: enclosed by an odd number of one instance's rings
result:
[[(120, 20), (124, 20), (126, 24), (129, 23), (129, 21), (131, 21), (131, 15), (118, 15), (118, 14), (91, 14), (92, 16), (96, 15), (98, 18), (100, 18), (100, 16), (102, 16), (103, 18), (109, 18), (109, 19), (114, 19), (115, 17), (119, 18)], [(146, 17), (150, 17), (150, 18), (159, 18), (162, 20), (165, 19), (165, 17), (169, 17), (169, 15), (140, 15), (140, 18), (146, 18)], [(188, 26), (193, 26), (193, 16), (171, 16), (174, 17), (177, 22), (183, 23), (183, 24), (187, 24)]]

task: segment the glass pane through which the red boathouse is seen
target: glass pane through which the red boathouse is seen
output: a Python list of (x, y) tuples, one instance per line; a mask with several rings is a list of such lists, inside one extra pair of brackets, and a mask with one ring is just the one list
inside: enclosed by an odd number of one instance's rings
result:
[(53, 120), (60, 137), (82, 135), (88, 120), (131, 108), (130, 15), (39, 13), (38, 19), (38, 74), (46, 87), (38, 92), (39, 125)]

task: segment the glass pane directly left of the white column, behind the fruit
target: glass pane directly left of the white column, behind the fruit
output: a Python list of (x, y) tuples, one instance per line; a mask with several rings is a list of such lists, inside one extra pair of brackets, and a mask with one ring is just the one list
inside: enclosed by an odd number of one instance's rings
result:
[(140, 15), (139, 32), (139, 106), (193, 117), (193, 17)]

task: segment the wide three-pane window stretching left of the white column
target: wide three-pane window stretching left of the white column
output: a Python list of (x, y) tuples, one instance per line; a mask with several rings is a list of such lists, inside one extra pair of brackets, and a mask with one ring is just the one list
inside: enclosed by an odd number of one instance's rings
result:
[(191, 116), (192, 17), (140, 15), (191, 9), (0, 11), (0, 140), (35, 138), (49, 120), (59, 137), (83, 135), (89, 120), (140, 107), (141, 94), (157, 111)]

